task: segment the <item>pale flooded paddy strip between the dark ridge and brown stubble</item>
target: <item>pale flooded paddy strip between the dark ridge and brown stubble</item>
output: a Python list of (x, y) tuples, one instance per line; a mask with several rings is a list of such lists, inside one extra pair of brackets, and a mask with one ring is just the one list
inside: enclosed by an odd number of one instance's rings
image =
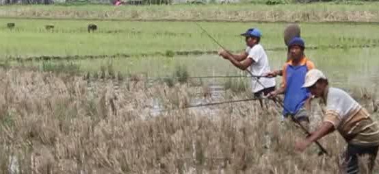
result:
[[(262, 43), (264, 45), (264, 43)], [(267, 51), (271, 69), (282, 69), (285, 51)], [(329, 77), (332, 86), (340, 88), (377, 88), (379, 85), (379, 49), (317, 49), (306, 50), (306, 56)], [(68, 62), (68, 61), (64, 61)], [(105, 58), (70, 61), (80, 66), (81, 71), (101, 71), (109, 67), (116, 73), (139, 74), (148, 78), (172, 76), (178, 65), (185, 66), (189, 76), (246, 75), (218, 55), (177, 55), (174, 58), (152, 56), (143, 58)], [(54, 61), (53, 63), (61, 63)], [(31, 64), (40, 65), (41, 62)], [(200, 82), (200, 79), (192, 79)], [(222, 85), (228, 79), (201, 79), (204, 84)], [(247, 83), (250, 79), (244, 79)], [(280, 83), (280, 77), (276, 78)]]

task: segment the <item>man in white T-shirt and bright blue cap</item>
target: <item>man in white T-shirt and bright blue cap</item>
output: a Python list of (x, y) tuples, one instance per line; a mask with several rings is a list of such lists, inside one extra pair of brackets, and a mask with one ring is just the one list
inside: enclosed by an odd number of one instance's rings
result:
[[(229, 60), (234, 66), (241, 70), (246, 70), (250, 67), (250, 72), (252, 75), (263, 76), (270, 73), (270, 64), (263, 49), (262, 45), (259, 44), (261, 40), (261, 32), (259, 29), (251, 28), (245, 33), (241, 34), (245, 36), (247, 48), (243, 53), (231, 54), (226, 50), (221, 50), (219, 55), (222, 58)], [(275, 90), (275, 79), (262, 77), (257, 79), (252, 77), (251, 87), (254, 97), (261, 97), (261, 95), (267, 95)], [(263, 102), (261, 106), (263, 106)]]

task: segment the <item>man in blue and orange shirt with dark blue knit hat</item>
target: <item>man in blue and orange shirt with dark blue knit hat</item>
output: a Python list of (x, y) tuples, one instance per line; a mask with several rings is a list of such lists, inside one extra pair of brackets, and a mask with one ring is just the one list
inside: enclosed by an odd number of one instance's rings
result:
[[(304, 55), (305, 44), (302, 38), (293, 38), (288, 45), (290, 60), (283, 66), (283, 82), (280, 88), (270, 92), (268, 97), (284, 94), (283, 116), (293, 116), (304, 127), (309, 127), (309, 114), (305, 109), (310, 107), (311, 93), (302, 88), (306, 72), (315, 68)], [(272, 73), (269, 73), (269, 75)]]

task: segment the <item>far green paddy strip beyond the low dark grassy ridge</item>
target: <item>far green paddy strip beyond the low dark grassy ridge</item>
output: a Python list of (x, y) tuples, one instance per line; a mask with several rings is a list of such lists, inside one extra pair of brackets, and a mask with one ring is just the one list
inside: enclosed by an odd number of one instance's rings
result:
[[(6, 23), (15, 23), (8, 29)], [(90, 23), (98, 30), (88, 33)], [(2, 58), (29, 58), (41, 55), (73, 56), (103, 55), (130, 57), (166, 55), (171, 51), (218, 51), (215, 45), (193, 22), (140, 21), (75, 21), (0, 19), (0, 55)], [(54, 25), (48, 31), (45, 25)], [(287, 23), (220, 23), (202, 22), (202, 27), (228, 49), (244, 49), (239, 36), (249, 27), (263, 31), (262, 44), (267, 50), (284, 50), (283, 29)], [(344, 23), (300, 23), (302, 37), (308, 47), (328, 49), (339, 46), (369, 46), (379, 44), (377, 25)], [(128, 55), (128, 56), (127, 56)]]

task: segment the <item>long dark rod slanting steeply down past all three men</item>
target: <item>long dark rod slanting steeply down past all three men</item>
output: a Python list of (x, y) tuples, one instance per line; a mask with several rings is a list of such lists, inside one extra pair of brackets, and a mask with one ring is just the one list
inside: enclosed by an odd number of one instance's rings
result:
[[(195, 22), (196, 23), (196, 22)], [(228, 54), (231, 54), (230, 52), (228, 52), (217, 40), (215, 40), (215, 38), (213, 38), (204, 28), (202, 28), (201, 27), (201, 25), (199, 25), (198, 23), (196, 23), (196, 25), (198, 25), (198, 27), (200, 27), (200, 29), (202, 29), (202, 31), (203, 32), (205, 32), (205, 34), (207, 34), (207, 36), (209, 36), (209, 38), (211, 38), (217, 45), (219, 45), (222, 49), (224, 49)], [(246, 71), (251, 75), (251, 76), (253, 76), (252, 75), (252, 73), (250, 72), (250, 71), (248, 71), (248, 69), (246, 69)], [(258, 84), (260, 84), (263, 88), (265, 88), (265, 86), (261, 83), (261, 82), (259, 82), (259, 79), (257, 78), (257, 77), (254, 77), (256, 80), (257, 80), (257, 82), (258, 82)], [(284, 110), (287, 110), (287, 112), (289, 112), (289, 113), (291, 113), (286, 107), (285, 107), (285, 105), (283, 105), (283, 103), (281, 103), (280, 101), (278, 101), (278, 99), (276, 98), (276, 97), (273, 97), (272, 98), (272, 100), (275, 102), (275, 103), (279, 103), (279, 105), (280, 106), (282, 106), (282, 108), (284, 109)], [(301, 125), (300, 124), (300, 122), (298, 121), (298, 120), (296, 120), (295, 118), (293, 118), (293, 116), (291, 115), (291, 120), (294, 122), (294, 123), (296, 123), (296, 124), (298, 124), (298, 125), (300, 125), (300, 127), (301, 127), (301, 129), (308, 135), (308, 136), (310, 136), (311, 135), (311, 133), (309, 133), (309, 131), (303, 126), (303, 125)], [(326, 155), (328, 155), (328, 151), (326, 151), (326, 149), (318, 142), (318, 141), (315, 141), (315, 143), (316, 143), (316, 145), (319, 147), (319, 149), (321, 150), (321, 152), (322, 153), (325, 153)], [(319, 155), (320, 155), (320, 153), (319, 153)]]

